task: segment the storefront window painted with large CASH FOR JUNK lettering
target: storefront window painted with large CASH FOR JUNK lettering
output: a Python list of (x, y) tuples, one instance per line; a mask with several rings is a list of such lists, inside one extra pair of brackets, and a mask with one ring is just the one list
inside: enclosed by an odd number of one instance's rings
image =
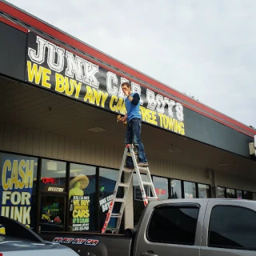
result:
[(0, 153), (0, 212), (34, 229), (38, 158)]

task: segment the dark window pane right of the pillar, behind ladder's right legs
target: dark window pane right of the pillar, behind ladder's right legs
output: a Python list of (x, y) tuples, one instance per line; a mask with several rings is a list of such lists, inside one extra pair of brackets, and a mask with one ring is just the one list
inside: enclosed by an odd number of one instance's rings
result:
[[(146, 174), (141, 174), (142, 181), (146, 182)], [(138, 185), (137, 174), (133, 174), (133, 190), (134, 190), (134, 227), (138, 226), (139, 219), (142, 215), (142, 211), (145, 206), (142, 200), (142, 192), (140, 190), (140, 186)], [(147, 196), (150, 196), (150, 188), (149, 186), (144, 186), (145, 192)]]

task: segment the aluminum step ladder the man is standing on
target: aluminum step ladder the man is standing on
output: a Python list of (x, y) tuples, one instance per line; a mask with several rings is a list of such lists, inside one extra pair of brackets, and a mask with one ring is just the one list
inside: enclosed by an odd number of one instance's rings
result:
[[(134, 162), (134, 169), (133, 170), (131, 170), (131, 169), (124, 170), (124, 166), (126, 165), (127, 156), (130, 156), (132, 158), (133, 162)], [(135, 154), (135, 152), (134, 152), (134, 146), (133, 146), (133, 144), (127, 144), (126, 148), (124, 150), (123, 157), (122, 157), (122, 163), (121, 163), (121, 166), (120, 166), (120, 169), (119, 169), (118, 179), (117, 179), (117, 182), (116, 182), (115, 187), (114, 187), (113, 197), (112, 197), (112, 200), (110, 202), (108, 213), (106, 214), (106, 221), (105, 221), (105, 223), (102, 227), (102, 233), (106, 232), (107, 226), (110, 222), (110, 218), (118, 218), (117, 225), (114, 229), (114, 233), (118, 234), (120, 226), (121, 226), (123, 211), (124, 211), (125, 206), (126, 206), (126, 198), (127, 198), (128, 192), (129, 192), (130, 182), (132, 181), (134, 172), (137, 174), (138, 184), (139, 184), (140, 190), (142, 192), (142, 200), (144, 202), (144, 206), (146, 206), (149, 201), (158, 200), (157, 194), (154, 190), (154, 184), (153, 184), (151, 176), (150, 176), (149, 167), (148, 166), (147, 167), (146, 166), (143, 166), (143, 167), (138, 166), (137, 154)], [(142, 174), (146, 174), (146, 178), (147, 178), (146, 182), (142, 181), (141, 172), (142, 172)], [(126, 182), (126, 183), (121, 182), (121, 178), (122, 178), (123, 173), (127, 174), (126, 180), (128, 182)], [(149, 186), (150, 187), (152, 197), (149, 197), (149, 196), (146, 195), (144, 186)], [(123, 198), (117, 198), (118, 189), (120, 187), (123, 187), (124, 190), (125, 190)], [(121, 202), (121, 207), (120, 207), (120, 210), (119, 210), (118, 214), (113, 214), (112, 213), (112, 211), (114, 209), (114, 203), (115, 202)]]

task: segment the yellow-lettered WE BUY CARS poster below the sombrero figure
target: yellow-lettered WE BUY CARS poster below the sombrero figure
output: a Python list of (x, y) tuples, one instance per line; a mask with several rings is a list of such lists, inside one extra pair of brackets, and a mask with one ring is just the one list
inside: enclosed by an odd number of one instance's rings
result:
[(73, 231), (89, 230), (90, 224), (90, 197), (73, 196), (72, 227)]

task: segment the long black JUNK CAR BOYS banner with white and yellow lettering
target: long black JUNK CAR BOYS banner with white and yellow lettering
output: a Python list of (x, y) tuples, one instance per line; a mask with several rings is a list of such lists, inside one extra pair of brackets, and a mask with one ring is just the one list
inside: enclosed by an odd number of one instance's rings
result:
[(122, 82), (140, 95), (142, 121), (185, 135), (183, 106), (138, 83), (29, 33), (25, 80), (117, 114), (126, 114)]

